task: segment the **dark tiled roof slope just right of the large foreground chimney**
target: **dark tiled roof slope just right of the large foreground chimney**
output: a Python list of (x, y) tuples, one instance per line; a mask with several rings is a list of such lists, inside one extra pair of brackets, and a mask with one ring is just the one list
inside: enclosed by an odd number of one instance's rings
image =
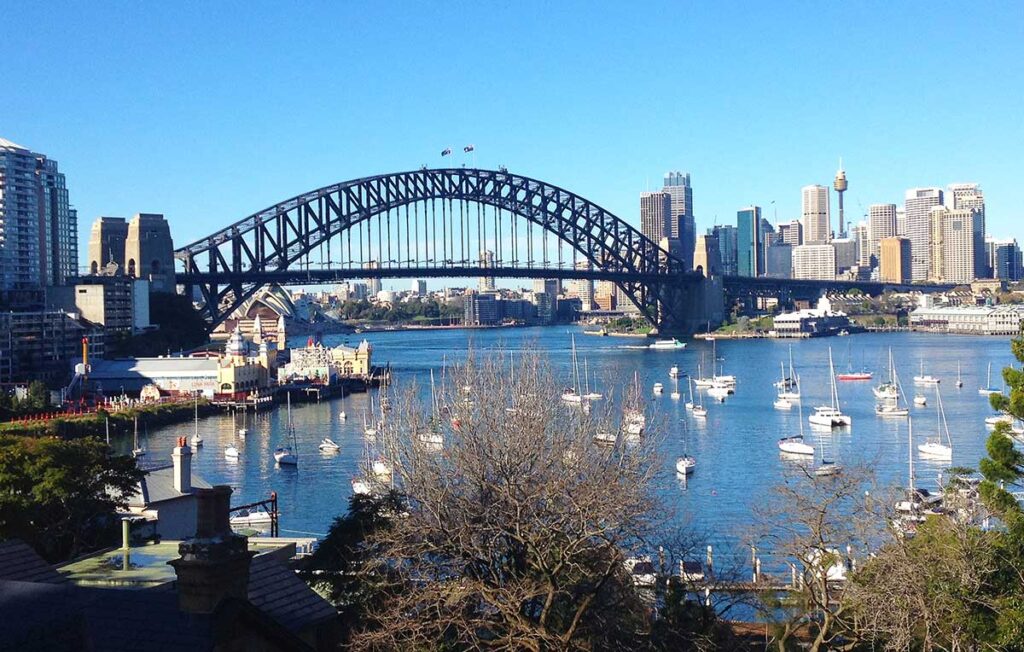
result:
[(291, 632), (338, 615), (327, 600), (272, 555), (253, 558), (249, 602)]

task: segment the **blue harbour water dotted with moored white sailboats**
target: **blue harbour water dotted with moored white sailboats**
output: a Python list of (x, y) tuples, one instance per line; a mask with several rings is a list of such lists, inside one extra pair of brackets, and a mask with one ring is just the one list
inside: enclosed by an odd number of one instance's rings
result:
[[(672, 365), (684, 374), (697, 375), (701, 359), (712, 360), (712, 343), (690, 341), (685, 349), (647, 350), (637, 348), (644, 340), (581, 335), (575, 327), (538, 329), (496, 329), (475, 331), (429, 331), (370, 333), (360, 336), (329, 336), (325, 344), (343, 341), (356, 343), (366, 338), (374, 345), (376, 363), (390, 362), (400, 382), (417, 378), (421, 387), (429, 385), (431, 370), (439, 370), (465, 356), (470, 346), (486, 349), (501, 344), (508, 350), (539, 350), (550, 357), (553, 366), (563, 373), (566, 385), (570, 378), (570, 337), (577, 334), (581, 364), (587, 360), (598, 391), (622, 395), (624, 387), (639, 374), (648, 409), (667, 429), (663, 443), (665, 471), (663, 486), (666, 502), (675, 519), (709, 532), (726, 548), (739, 540), (751, 523), (752, 508), (781, 478), (785, 465), (776, 446), (780, 437), (800, 433), (800, 411), (795, 404), (787, 411), (773, 409), (773, 383), (779, 379), (779, 362), (787, 361), (790, 347), (802, 381), (804, 432), (809, 443), (825, 457), (843, 465), (865, 463), (876, 470), (882, 484), (903, 485), (907, 478), (907, 420), (883, 420), (874, 415), (871, 388), (887, 375), (888, 350), (891, 347), (897, 372), (907, 398), (923, 393), (926, 407), (912, 407), (914, 445), (937, 434), (937, 410), (934, 388), (914, 388), (911, 378), (921, 368), (941, 379), (940, 391), (953, 443), (956, 466), (977, 467), (984, 455), (987, 431), (984, 418), (991, 415), (986, 396), (978, 389), (986, 383), (986, 371), (992, 364), (992, 385), (1001, 387), (1001, 368), (1010, 364), (1007, 338), (953, 337), (912, 333), (862, 334), (847, 338), (800, 341), (727, 340), (717, 344), (720, 373), (737, 378), (736, 393), (724, 403), (705, 396), (708, 419), (694, 420), (685, 409), (685, 379), (680, 379), (682, 398), (670, 397)], [(302, 345), (302, 342), (294, 342)], [(831, 347), (837, 373), (850, 367), (874, 373), (871, 381), (840, 382), (843, 410), (853, 418), (849, 429), (821, 432), (807, 424), (810, 409), (829, 401), (828, 348)], [(957, 362), (964, 387), (955, 387)], [(665, 385), (658, 396), (652, 393), (655, 382)], [(284, 441), (286, 410), (250, 415), (249, 436), (237, 437), (242, 418), (213, 417), (200, 422), (205, 445), (195, 454), (195, 471), (214, 484), (229, 484), (236, 492), (234, 504), (267, 497), (276, 491), (280, 501), (282, 534), (322, 535), (331, 521), (342, 514), (351, 493), (350, 480), (366, 454), (362, 415), (370, 395), (354, 394), (344, 399), (295, 405), (293, 423), (300, 462), (298, 468), (279, 468), (273, 449)], [(348, 419), (342, 421), (339, 412)], [(170, 450), (178, 436), (191, 434), (193, 424), (151, 430), (143, 442), (151, 464), (170, 462)], [(321, 453), (316, 445), (325, 437), (341, 445), (334, 454)], [(234, 443), (237, 460), (226, 460), (224, 448)], [(117, 442), (126, 451), (128, 441)], [(697, 467), (684, 483), (673, 471), (676, 458), (687, 452), (696, 458)], [(949, 463), (929, 462), (914, 450), (919, 485), (934, 488), (938, 474)]]

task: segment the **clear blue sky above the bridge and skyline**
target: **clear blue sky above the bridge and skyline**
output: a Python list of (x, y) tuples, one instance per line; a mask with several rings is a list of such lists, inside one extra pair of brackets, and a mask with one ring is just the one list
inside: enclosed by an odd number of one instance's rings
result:
[(800, 187), (829, 184), (842, 156), (855, 216), (978, 181), (989, 232), (1024, 240), (1019, 0), (0, 0), (0, 136), (59, 161), (83, 250), (97, 215), (164, 213), (183, 245), (467, 143), (480, 167), (634, 222), (641, 190), (689, 171), (701, 231), (752, 203), (797, 216)]

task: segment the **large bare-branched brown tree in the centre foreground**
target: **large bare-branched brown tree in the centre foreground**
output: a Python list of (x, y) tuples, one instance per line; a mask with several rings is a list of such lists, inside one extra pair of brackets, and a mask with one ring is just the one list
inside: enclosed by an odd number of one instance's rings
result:
[(646, 608), (624, 560), (658, 513), (655, 438), (596, 444), (622, 412), (566, 405), (560, 387), (536, 355), (512, 368), (496, 353), (429, 400), (408, 386), (388, 401), (380, 444), (407, 507), (370, 536), (360, 574), (379, 607), (357, 648), (636, 644)]

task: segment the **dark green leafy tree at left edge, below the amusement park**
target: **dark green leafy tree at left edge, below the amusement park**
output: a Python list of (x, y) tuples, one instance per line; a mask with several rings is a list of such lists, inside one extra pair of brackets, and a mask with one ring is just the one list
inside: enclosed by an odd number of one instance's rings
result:
[(0, 538), (22, 538), (51, 562), (109, 544), (140, 477), (133, 458), (96, 439), (0, 435)]

